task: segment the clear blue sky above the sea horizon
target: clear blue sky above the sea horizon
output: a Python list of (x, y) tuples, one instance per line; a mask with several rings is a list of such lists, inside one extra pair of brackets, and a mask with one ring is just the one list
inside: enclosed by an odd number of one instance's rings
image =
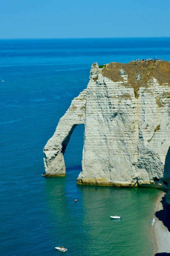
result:
[(170, 36), (170, 0), (0, 0), (0, 3), (0, 38)]

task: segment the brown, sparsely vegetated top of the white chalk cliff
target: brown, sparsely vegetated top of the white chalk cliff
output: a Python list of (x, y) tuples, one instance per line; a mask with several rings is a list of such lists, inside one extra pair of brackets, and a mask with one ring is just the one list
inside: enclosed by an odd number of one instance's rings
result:
[(139, 61), (129, 63), (111, 62), (102, 70), (102, 75), (110, 78), (113, 82), (124, 81), (120, 76), (120, 70), (128, 75), (128, 84), (134, 89), (136, 98), (138, 90), (147, 81), (154, 77), (160, 85), (167, 83), (170, 86), (170, 63), (167, 61)]

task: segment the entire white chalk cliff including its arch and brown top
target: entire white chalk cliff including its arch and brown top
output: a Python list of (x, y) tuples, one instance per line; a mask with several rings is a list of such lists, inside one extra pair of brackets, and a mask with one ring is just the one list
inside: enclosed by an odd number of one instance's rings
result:
[(94, 63), (87, 90), (72, 101), (44, 148), (46, 175), (65, 175), (63, 153), (80, 123), (78, 183), (168, 189), (170, 63)]

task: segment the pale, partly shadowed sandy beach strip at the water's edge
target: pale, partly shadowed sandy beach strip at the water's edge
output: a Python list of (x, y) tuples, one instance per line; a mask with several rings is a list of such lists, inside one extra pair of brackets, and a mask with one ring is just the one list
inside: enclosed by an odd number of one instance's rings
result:
[(169, 256), (170, 232), (167, 228), (167, 203), (165, 201), (165, 192), (163, 191), (156, 202), (153, 218), (155, 222), (151, 229), (151, 235), (154, 244), (154, 255)]

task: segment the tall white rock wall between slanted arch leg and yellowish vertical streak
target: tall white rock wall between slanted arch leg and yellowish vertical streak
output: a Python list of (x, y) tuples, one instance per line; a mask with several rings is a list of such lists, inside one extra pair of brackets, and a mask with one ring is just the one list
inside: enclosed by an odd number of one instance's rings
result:
[[(127, 74), (118, 82), (92, 65), (87, 86), (85, 141), (80, 184), (134, 186), (136, 99)], [(121, 80), (121, 81), (120, 81)], [(136, 155), (135, 155), (136, 157)]]

